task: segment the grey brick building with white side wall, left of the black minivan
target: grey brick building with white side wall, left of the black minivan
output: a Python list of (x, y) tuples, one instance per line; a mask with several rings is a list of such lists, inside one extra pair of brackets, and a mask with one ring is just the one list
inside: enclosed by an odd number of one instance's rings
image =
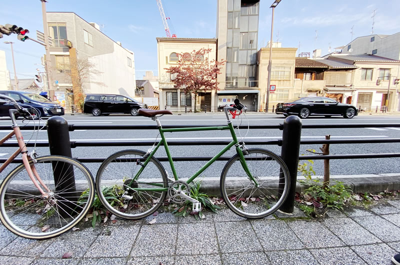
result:
[[(115, 93), (134, 96), (135, 73), (133, 52), (122, 47), (100, 31), (96, 23), (89, 23), (73, 12), (47, 12), (51, 73), (55, 80), (55, 94), (73, 103), (71, 55), (77, 58), (78, 72), (84, 93)], [(68, 43), (66, 41), (69, 41)], [(72, 44), (74, 49), (68, 47)], [(71, 51), (71, 50), (76, 50)], [(74, 52), (76, 54), (70, 54)]]

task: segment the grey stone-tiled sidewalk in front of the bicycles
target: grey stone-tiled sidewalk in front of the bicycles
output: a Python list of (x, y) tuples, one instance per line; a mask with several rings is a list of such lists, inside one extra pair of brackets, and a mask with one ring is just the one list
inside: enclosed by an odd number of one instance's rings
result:
[[(350, 210), (351, 209), (351, 210)], [(400, 252), (400, 200), (329, 210), (323, 219), (243, 219), (229, 209), (80, 227), (56, 238), (16, 237), (0, 226), (1, 264), (390, 264)], [(65, 252), (71, 257), (62, 259)]]

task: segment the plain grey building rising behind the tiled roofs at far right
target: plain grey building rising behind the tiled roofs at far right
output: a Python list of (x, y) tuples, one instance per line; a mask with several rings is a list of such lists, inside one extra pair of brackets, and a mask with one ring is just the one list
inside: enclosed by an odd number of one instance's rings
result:
[(372, 54), (400, 60), (400, 32), (357, 37), (343, 47), (343, 53)]

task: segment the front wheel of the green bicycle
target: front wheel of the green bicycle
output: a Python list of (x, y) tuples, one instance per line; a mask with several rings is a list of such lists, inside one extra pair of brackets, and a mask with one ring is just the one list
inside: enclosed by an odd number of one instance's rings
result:
[(256, 182), (250, 179), (235, 154), (222, 170), (221, 194), (236, 214), (249, 219), (262, 218), (276, 211), (286, 199), (289, 173), (283, 160), (271, 151), (251, 148), (244, 158)]

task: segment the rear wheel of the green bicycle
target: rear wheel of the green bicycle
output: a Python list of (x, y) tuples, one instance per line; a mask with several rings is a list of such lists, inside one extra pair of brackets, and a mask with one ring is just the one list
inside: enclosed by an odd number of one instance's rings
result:
[[(151, 157), (143, 168), (139, 178), (134, 181), (133, 188), (144, 188), (133, 191), (128, 188), (129, 180), (133, 179), (137, 170), (144, 163), (145, 152), (140, 150), (122, 150), (111, 154), (101, 163), (96, 174), (97, 196), (110, 212), (125, 219), (140, 219), (152, 214), (164, 201), (166, 191), (151, 191), (146, 188), (154, 187), (151, 184), (168, 187), (168, 180), (164, 167), (154, 157)], [(113, 164), (115, 163), (115, 164)], [(122, 198), (125, 191), (132, 196), (130, 200)], [(151, 199), (151, 201), (150, 201)], [(152, 206), (148, 206), (152, 205)]]

